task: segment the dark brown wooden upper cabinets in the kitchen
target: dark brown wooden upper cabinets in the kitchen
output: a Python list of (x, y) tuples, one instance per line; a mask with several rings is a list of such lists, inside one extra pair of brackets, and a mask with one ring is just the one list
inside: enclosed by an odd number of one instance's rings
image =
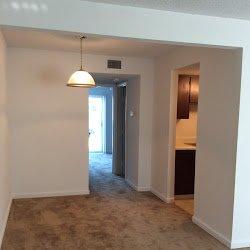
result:
[(199, 76), (179, 75), (177, 119), (189, 119), (189, 104), (198, 103)]

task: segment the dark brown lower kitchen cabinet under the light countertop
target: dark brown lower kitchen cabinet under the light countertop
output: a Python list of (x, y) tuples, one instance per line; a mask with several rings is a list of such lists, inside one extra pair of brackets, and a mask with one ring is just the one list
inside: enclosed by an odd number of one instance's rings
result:
[(194, 194), (195, 150), (175, 151), (175, 195)]

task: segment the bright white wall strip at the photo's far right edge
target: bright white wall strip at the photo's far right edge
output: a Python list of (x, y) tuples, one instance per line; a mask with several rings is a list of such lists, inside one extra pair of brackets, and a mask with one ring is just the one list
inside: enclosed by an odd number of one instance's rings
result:
[(250, 46), (243, 50), (232, 247), (250, 246)]

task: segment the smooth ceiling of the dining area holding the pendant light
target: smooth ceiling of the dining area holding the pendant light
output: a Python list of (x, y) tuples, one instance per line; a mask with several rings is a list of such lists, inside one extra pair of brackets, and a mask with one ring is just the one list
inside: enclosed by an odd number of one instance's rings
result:
[[(79, 51), (77, 34), (13, 28), (4, 28), (2, 31), (8, 47)], [(89, 36), (84, 41), (84, 53), (111, 56), (157, 57), (175, 47), (157, 42), (100, 36)]]

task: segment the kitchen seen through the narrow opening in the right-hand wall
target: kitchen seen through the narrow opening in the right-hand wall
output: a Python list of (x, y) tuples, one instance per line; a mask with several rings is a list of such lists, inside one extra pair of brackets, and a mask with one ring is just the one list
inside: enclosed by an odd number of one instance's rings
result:
[(176, 144), (175, 144), (175, 205), (193, 215), (199, 65), (178, 72)]

